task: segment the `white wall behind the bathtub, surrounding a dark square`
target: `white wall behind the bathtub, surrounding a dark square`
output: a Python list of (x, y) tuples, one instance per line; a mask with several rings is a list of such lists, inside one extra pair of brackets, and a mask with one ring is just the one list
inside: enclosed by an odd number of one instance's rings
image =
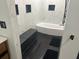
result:
[[(43, 16), (43, 22), (61, 24), (64, 15), (64, 8), (65, 8), (65, 0), (41, 0), (42, 4), (41, 7), (41, 16)], [(48, 5), (54, 4), (55, 11), (48, 11)]]

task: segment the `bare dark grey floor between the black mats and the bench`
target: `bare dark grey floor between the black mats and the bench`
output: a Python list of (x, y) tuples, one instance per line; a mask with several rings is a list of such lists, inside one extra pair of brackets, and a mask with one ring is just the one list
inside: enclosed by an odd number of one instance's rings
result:
[(43, 59), (48, 49), (58, 51), (58, 48), (50, 46), (52, 36), (38, 33), (37, 40), (38, 45), (25, 59)]

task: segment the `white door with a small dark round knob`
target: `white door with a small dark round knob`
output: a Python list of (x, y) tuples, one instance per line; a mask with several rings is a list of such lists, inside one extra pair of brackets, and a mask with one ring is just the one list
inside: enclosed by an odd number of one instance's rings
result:
[[(79, 53), (79, 0), (70, 0), (59, 59), (77, 59)], [(74, 40), (70, 40), (74, 35)]]

